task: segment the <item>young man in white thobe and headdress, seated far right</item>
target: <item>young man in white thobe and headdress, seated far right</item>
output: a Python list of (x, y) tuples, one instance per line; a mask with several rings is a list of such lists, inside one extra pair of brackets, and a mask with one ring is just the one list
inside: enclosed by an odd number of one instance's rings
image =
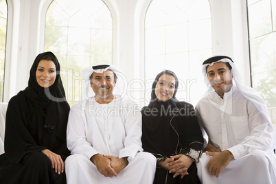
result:
[(276, 183), (275, 133), (266, 103), (228, 56), (203, 62), (207, 95), (196, 105), (208, 137), (198, 167), (202, 183)]

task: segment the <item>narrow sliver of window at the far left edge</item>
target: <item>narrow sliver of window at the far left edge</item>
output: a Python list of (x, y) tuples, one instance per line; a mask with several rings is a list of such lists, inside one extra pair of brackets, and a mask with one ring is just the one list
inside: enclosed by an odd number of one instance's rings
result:
[(8, 7), (5, 0), (0, 0), (0, 102), (3, 102), (5, 76), (5, 38), (7, 34)]

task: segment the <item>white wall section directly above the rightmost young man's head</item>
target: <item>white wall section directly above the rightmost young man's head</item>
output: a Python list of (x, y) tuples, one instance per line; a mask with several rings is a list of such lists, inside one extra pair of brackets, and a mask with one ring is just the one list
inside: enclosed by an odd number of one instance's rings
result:
[(246, 1), (209, 0), (211, 5), (213, 53), (230, 56), (250, 85)]

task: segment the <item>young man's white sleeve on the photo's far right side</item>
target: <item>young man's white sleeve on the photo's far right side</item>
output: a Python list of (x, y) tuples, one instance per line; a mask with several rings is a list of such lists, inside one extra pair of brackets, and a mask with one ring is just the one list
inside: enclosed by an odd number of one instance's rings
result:
[(245, 137), (241, 143), (227, 149), (235, 159), (239, 159), (251, 152), (251, 150), (270, 150), (273, 132), (269, 130), (268, 122), (261, 115), (253, 103), (248, 105), (248, 121), (250, 135)]

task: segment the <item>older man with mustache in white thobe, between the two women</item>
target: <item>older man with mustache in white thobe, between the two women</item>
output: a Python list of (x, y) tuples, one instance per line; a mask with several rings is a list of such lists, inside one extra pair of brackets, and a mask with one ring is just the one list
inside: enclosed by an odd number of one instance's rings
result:
[(152, 183), (156, 159), (142, 152), (141, 113), (122, 96), (122, 71), (97, 65), (82, 73), (82, 100), (71, 108), (67, 126), (67, 183)]

